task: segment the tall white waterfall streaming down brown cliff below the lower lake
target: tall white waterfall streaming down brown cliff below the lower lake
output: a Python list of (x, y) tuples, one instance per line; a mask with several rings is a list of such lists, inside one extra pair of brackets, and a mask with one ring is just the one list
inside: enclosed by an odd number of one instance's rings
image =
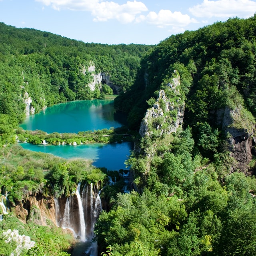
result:
[(80, 186), (78, 183), (70, 197), (55, 199), (56, 224), (68, 228), (86, 244), (86, 255), (97, 256), (97, 243), (92, 239), (94, 224), (102, 211), (100, 188), (98, 184), (86, 183), (80, 193)]

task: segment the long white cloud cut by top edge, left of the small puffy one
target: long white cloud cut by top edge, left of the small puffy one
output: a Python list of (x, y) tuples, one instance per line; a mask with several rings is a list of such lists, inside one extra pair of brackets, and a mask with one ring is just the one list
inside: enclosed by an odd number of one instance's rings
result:
[(127, 1), (126, 4), (100, 0), (36, 0), (55, 10), (69, 9), (89, 11), (94, 16), (94, 21), (107, 21), (117, 19), (122, 23), (133, 22), (136, 15), (148, 10), (142, 2)]

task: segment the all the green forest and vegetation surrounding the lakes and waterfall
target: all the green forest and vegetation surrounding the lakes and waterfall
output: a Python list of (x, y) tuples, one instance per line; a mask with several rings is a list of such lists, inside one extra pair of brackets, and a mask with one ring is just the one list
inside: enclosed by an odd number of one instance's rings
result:
[[(3, 23), (0, 41), (0, 184), (10, 201), (0, 222), (0, 255), (15, 246), (5, 242), (8, 229), (36, 242), (20, 255), (69, 255), (70, 234), (50, 220), (39, 223), (36, 208), (25, 220), (15, 209), (33, 194), (46, 201), (69, 196), (81, 181), (106, 186), (94, 229), (98, 255), (256, 255), (256, 15), (185, 31), (156, 46), (88, 44)], [(86, 143), (128, 133), (135, 144), (126, 163), (130, 193), (122, 193), (122, 181), (108, 186), (115, 173), (90, 161), (16, 143), (17, 137), (34, 144), (63, 140), (18, 128), (27, 94), (35, 113), (104, 98), (112, 93), (108, 86), (88, 86), (100, 72), (118, 86), (114, 106), (128, 114), (128, 127), (94, 131)]]

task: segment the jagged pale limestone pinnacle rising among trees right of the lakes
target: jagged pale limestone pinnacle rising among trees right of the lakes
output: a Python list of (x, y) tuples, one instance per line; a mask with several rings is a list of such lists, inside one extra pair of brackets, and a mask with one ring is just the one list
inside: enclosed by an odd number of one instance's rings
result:
[(180, 76), (174, 70), (172, 82), (166, 84), (166, 91), (171, 91), (175, 96), (170, 99), (164, 90), (159, 91), (156, 102), (146, 111), (140, 124), (140, 136), (151, 137), (156, 133), (157, 136), (163, 133), (170, 134), (182, 126), (185, 102), (178, 96), (180, 95), (179, 86)]

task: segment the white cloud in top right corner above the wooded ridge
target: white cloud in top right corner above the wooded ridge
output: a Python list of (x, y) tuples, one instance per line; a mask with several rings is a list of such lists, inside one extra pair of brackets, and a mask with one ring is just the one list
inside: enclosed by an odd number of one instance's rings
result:
[(249, 18), (256, 12), (256, 2), (250, 0), (204, 0), (202, 4), (189, 8), (189, 11), (196, 17), (231, 18), (238, 16)]

